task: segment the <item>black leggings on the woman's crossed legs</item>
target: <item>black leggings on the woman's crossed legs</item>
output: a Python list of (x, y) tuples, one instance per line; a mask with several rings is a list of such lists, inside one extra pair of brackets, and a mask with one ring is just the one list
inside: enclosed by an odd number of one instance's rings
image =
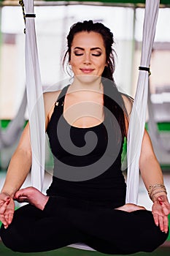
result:
[(131, 213), (50, 197), (43, 211), (30, 204), (15, 211), (1, 240), (16, 252), (43, 252), (84, 242), (98, 252), (152, 252), (168, 234), (161, 232), (150, 211)]

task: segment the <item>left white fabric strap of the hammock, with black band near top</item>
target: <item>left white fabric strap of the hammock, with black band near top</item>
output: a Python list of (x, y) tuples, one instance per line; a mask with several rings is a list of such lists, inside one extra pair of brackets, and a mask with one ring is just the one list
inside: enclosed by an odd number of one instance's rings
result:
[[(26, 14), (34, 13), (34, 0), (24, 0)], [(34, 18), (26, 18), (26, 89), (31, 130), (32, 185), (42, 191), (45, 173), (45, 108), (36, 45)]]

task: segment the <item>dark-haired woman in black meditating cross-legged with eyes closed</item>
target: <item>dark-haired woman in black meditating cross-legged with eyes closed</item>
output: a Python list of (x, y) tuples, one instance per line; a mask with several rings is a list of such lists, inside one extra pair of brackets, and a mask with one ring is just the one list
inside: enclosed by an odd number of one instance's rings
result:
[[(147, 132), (139, 159), (152, 212), (125, 204), (120, 171), (131, 99), (112, 78), (113, 35), (92, 20), (67, 37), (73, 83), (45, 94), (46, 130), (54, 156), (53, 182), (43, 195), (20, 189), (31, 168), (28, 124), (0, 194), (1, 239), (18, 252), (41, 252), (79, 241), (108, 254), (152, 252), (166, 240), (169, 201)], [(14, 200), (28, 202), (14, 213)]]

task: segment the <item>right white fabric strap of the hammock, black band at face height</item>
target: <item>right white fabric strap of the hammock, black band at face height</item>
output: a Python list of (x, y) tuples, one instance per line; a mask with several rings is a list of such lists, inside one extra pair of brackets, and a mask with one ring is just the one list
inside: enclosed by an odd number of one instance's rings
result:
[[(152, 45), (158, 19), (159, 0), (146, 0), (143, 26), (141, 67), (150, 67)], [(148, 72), (140, 70), (134, 106), (128, 129), (128, 176), (126, 203), (137, 203), (139, 189), (139, 157), (147, 110)]]

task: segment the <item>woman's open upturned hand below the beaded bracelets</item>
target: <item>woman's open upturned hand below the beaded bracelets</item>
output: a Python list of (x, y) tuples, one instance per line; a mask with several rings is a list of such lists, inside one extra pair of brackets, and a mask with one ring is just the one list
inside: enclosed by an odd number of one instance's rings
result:
[(167, 233), (169, 229), (170, 203), (166, 195), (157, 197), (152, 205), (152, 214), (155, 225), (159, 226), (161, 231)]

